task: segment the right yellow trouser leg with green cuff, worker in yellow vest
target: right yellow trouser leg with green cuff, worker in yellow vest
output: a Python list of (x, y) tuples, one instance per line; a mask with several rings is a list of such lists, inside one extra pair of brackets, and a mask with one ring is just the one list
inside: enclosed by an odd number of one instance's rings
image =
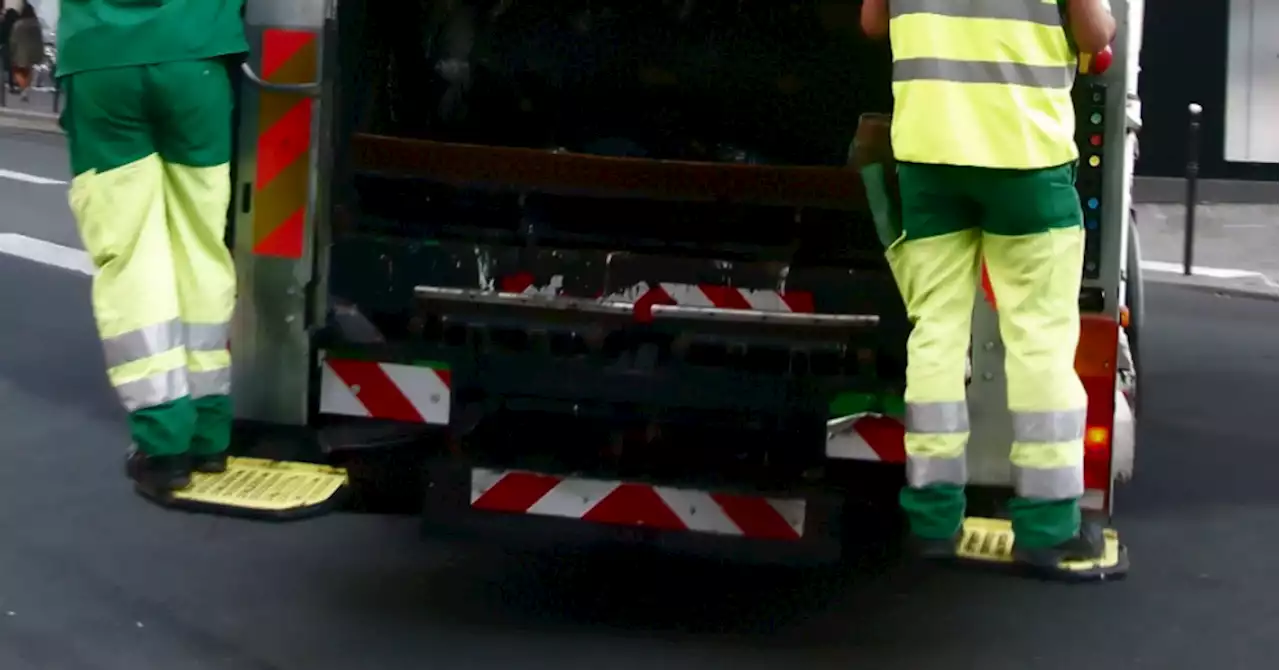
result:
[[(1061, 197), (1075, 197), (1074, 190), (1064, 191), (1070, 192)], [(1070, 218), (1070, 206), (1062, 211)], [(1084, 493), (1088, 397), (1075, 374), (1084, 232), (1076, 225), (1038, 234), (987, 234), (983, 250), (1000, 304), (1014, 415), (1014, 533), (1025, 546), (1051, 546), (1078, 530)]]

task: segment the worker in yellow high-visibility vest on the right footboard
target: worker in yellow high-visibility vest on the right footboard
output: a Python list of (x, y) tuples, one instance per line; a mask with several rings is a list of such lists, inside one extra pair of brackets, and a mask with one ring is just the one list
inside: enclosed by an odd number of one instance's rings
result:
[(902, 234), (887, 255), (908, 341), (908, 486), (927, 557), (964, 523), (965, 364), (979, 266), (1005, 343), (1015, 559), (1056, 566), (1103, 552), (1082, 524), (1087, 397), (1075, 373), (1084, 263), (1075, 191), (1078, 54), (1115, 35), (1105, 0), (865, 0), (863, 29), (893, 53), (892, 146)]

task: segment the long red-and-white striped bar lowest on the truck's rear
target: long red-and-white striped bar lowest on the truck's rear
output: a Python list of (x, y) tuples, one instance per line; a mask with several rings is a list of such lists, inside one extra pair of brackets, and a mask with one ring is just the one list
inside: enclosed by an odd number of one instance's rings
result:
[(522, 470), (471, 470), (471, 507), (756, 539), (804, 537), (805, 501)]

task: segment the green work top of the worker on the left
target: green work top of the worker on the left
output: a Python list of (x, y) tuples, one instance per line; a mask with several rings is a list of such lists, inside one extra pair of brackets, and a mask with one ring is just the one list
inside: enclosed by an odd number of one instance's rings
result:
[(58, 76), (248, 51), (244, 0), (61, 0)]

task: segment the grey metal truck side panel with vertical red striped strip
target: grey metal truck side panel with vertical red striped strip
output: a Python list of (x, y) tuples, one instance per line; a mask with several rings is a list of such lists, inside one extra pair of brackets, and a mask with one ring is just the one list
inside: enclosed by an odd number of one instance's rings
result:
[[(324, 19), (319, 0), (251, 0), (248, 68), (268, 85), (320, 81)], [(243, 77), (233, 222), (239, 295), (232, 332), (239, 420), (294, 427), (310, 420), (307, 309), (321, 217), (315, 168), (323, 102)]]

